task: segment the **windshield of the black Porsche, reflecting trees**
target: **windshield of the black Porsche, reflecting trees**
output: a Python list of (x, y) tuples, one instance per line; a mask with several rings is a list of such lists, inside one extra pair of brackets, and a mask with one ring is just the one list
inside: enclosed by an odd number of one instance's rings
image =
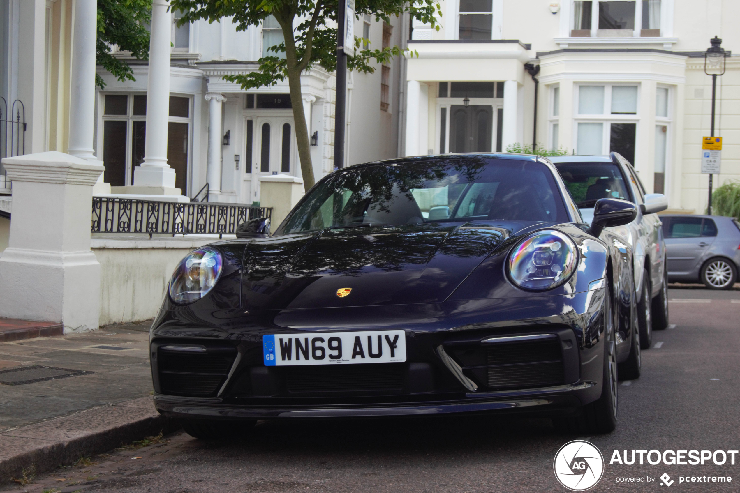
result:
[(469, 220), (569, 221), (542, 163), (456, 157), (336, 172), (309, 192), (280, 233)]

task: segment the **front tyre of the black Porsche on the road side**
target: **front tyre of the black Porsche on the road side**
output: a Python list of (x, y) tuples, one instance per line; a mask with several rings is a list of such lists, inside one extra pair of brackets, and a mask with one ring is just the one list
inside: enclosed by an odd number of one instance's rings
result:
[(553, 423), (567, 433), (609, 433), (616, 428), (617, 415), (617, 364), (616, 327), (611, 305), (611, 289), (605, 296), (604, 330), (604, 372), (602, 374), (602, 393), (596, 401), (579, 409), (579, 414), (567, 418), (554, 418)]

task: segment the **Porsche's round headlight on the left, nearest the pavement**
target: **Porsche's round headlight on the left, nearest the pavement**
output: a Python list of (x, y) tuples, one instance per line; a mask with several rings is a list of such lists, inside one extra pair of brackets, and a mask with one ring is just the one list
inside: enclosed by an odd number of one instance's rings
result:
[(203, 298), (218, 282), (222, 267), (221, 254), (213, 248), (190, 252), (172, 274), (169, 297), (180, 305)]

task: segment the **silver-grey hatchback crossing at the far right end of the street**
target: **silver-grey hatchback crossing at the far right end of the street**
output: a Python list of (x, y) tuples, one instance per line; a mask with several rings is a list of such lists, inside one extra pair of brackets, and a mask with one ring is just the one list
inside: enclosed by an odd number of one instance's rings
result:
[(740, 269), (740, 222), (733, 217), (665, 214), (669, 282), (731, 289)]

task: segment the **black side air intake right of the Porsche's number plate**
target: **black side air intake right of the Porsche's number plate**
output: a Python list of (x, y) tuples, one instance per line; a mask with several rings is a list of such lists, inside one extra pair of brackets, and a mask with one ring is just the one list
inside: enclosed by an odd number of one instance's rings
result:
[(551, 339), (471, 343), (450, 348), (468, 378), (488, 390), (550, 387), (565, 380), (562, 349)]

